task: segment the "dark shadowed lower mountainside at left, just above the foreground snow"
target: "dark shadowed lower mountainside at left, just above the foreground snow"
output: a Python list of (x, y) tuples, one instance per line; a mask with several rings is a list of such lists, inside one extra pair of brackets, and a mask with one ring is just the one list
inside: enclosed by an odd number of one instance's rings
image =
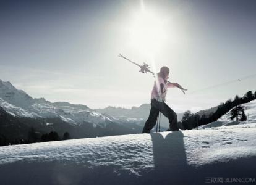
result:
[[(133, 123), (116, 123), (106, 120), (103, 126), (86, 121), (81, 125), (74, 125), (63, 121), (60, 117), (14, 117), (2, 109), (2, 107), (0, 107), (0, 110), (0, 146), (40, 142), (43, 134), (52, 131), (57, 132), (60, 138), (62, 138), (64, 133), (68, 132), (74, 139), (134, 134), (142, 131), (142, 126)], [(34, 135), (32, 138), (30, 137), (31, 132)]]

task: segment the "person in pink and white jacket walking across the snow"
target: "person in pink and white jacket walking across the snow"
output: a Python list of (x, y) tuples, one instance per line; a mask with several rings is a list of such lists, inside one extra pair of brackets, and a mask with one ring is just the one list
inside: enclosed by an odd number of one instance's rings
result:
[(154, 83), (153, 90), (151, 92), (151, 109), (148, 120), (145, 123), (142, 133), (150, 133), (151, 129), (156, 125), (156, 120), (159, 111), (163, 113), (169, 119), (169, 130), (177, 131), (177, 114), (164, 102), (167, 89), (177, 87), (186, 91), (178, 83), (168, 83), (169, 78), (169, 68), (161, 67), (160, 72), (157, 75), (156, 81)]

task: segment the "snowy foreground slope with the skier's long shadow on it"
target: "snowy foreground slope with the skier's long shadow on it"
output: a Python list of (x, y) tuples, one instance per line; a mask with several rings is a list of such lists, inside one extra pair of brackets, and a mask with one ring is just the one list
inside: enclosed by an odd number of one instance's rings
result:
[(5, 146), (1, 183), (205, 184), (217, 177), (256, 178), (255, 133), (256, 123), (250, 123)]

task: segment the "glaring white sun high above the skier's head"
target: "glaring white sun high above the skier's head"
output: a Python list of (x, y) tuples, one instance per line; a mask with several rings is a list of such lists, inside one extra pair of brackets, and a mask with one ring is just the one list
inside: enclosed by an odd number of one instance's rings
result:
[(133, 14), (129, 25), (130, 46), (143, 53), (155, 54), (166, 41), (164, 19), (153, 11), (142, 9)]

